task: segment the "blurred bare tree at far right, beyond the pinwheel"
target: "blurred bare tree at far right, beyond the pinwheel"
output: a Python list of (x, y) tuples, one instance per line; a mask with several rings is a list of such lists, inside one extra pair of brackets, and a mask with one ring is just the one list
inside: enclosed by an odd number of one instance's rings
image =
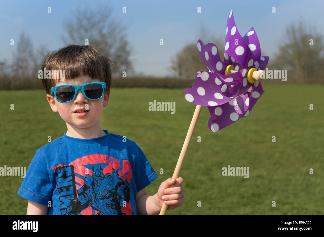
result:
[(297, 82), (310, 81), (317, 76), (323, 81), (322, 37), (316, 29), (306, 27), (303, 21), (290, 24), (286, 27), (283, 45), (274, 55), (273, 67), (287, 70)]

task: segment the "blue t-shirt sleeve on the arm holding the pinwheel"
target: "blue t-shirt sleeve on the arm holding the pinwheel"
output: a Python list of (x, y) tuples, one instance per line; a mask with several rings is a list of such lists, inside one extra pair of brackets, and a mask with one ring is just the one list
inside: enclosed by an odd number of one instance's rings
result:
[(135, 182), (136, 192), (141, 191), (146, 186), (151, 184), (157, 178), (157, 174), (152, 168), (150, 162), (147, 160), (142, 149), (137, 146), (135, 156)]

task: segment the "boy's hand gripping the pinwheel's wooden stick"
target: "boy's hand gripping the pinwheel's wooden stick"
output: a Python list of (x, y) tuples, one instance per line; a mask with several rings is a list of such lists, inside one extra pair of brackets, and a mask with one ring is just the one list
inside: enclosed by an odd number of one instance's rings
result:
[(184, 192), (182, 187), (183, 178), (179, 177), (177, 180), (175, 178), (168, 178), (166, 181), (162, 182), (159, 190), (157, 191), (157, 201), (161, 205), (163, 202), (169, 205), (168, 210), (175, 209), (184, 201)]

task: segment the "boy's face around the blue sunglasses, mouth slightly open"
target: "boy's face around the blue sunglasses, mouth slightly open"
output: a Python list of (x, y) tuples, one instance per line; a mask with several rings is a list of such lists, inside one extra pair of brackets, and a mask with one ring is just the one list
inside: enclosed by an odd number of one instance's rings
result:
[[(92, 80), (89, 76), (81, 76), (72, 80), (60, 81), (56, 83), (56, 86), (80, 86), (90, 82), (99, 82), (99, 80)], [(68, 103), (61, 103), (56, 100), (55, 95), (46, 95), (47, 100), (52, 108), (52, 111), (55, 113), (59, 112), (61, 118), (65, 121), (67, 125), (68, 131), (69, 128), (72, 128), (73, 130), (100, 128), (102, 108), (108, 105), (109, 96), (110, 91), (108, 93), (106, 91), (101, 99), (88, 100), (79, 89), (73, 101)], [(89, 112), (86, 114), (86, 116), (80, 117), (76, 113), (74, 113), (74, 111), (76, 110), (85, 110), (87, 104), (87, 110), (89, 110)]]

